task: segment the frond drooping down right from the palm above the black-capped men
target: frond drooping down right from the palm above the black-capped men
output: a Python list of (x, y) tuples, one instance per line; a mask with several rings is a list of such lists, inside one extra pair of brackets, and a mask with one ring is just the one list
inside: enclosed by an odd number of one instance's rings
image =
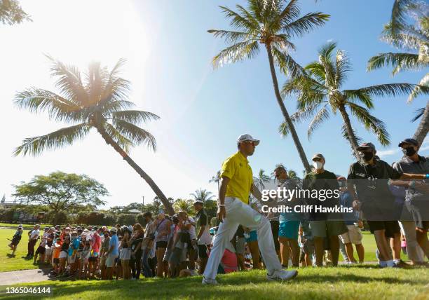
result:
[(379, 140), (380, 144), (386, 146), (390, 144), (390, 135), (387, 132), (386, 125), (383, 121), (369, 114), (365, 107), (354, 103), (348, 103), (348, 107), (352, 114), (362, 123), (367, 130), (371, 130)]

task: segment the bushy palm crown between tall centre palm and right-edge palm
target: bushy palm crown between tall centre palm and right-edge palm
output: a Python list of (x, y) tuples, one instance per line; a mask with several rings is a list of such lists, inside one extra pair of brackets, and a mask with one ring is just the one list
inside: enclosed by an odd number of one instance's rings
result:
[[(336, 43), (327, 43), (322, 46), (318, 51), (319, 60), (305, 67), (306, 74), (287, 81), (282, 88), (282, 93), (298, 95), (298, 111), (292, 115), (293, 121), (299, 122), (314, 116), (308, 127), (308, 138), (323, 121), (330, 117), (329, 111), (333, 114), (338, 111), (344, 122), (343, 136), (350, 143), (355, 156), (359, 157), (358, 138), (351, 124), (349, 112), (367, 130), (372, 130), (382, 145), (388, 145), (389, 135), (383, 121), (370, 114), (370, 110), (374, 107), (373, 97), (410, 93), (415, 85), (389, 83), (357, 90), (341, 90), (351, 66), (344, 51), (337, 50), (336, 55), (333, 56), (335, 48)], [(279, 131), (287, 135), (289, 132), (287, 123), (282, 123)]]

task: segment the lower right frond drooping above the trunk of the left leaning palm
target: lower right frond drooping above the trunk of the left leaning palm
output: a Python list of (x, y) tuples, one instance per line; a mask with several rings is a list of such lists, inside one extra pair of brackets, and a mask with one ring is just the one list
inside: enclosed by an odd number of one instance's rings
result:
[(128, 123), (122, 120), (114, 119), (113, 125), (116, 130), (118, 130), (121, 135), (130, 139), (134, 144), (144, 144), (150, 149), (156, 151), (156, 140), (153, 135), (143, 128)]

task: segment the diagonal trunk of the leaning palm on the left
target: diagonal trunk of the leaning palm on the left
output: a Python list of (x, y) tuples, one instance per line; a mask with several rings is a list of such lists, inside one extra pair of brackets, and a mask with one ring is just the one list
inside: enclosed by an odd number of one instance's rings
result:
[(100, 128), (100, 126), (97, 126), (96, 128), (98, 133), (102, 135), (104, 141), (110, 146), (112, 146), (116, 150), (116, 152), (118, 152), (118, 154), (121, 154), (121, 156), (128, 163), (128, 165), (130, 165), (131, 168), (135, 170), (135, 172), (139, 173), (140, 177), (142, 177), (147, 182), (147, 184), (149, 184), (152, 191), (155, 192), (156, 196), (158, 196), (158, 198), (163, 203), (165, 210), (168, 212), (168, 214), (175, 214), (175, 210), (173, 210), (171, 203), (168, 201), (167, 197), (165, 197), (161, 189), (158, 188), (154, 180), (152, 180), (151, 177), (147, 175), (147, 173), (144, 172), (144, 170), (142, 170), (142, 168), (140, 168), (139, 165), (137, 165), (137, 163), (135, 163), (135, 161), (133, 161), (130, 156), (128, 156), (128, 154), (125, 153), (125, 151), (123, 151), (121, 146), (119, 146), (118, 143), (116, 143), (114, 139), (112, 139), (110, 135), (107, 134), (104, 128)]

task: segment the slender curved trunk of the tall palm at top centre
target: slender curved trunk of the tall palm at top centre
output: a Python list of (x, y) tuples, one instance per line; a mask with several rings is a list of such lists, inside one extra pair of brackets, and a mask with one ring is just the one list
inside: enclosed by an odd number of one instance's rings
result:
[(268, 60), (270, 62), (271, 78), (273, 79), (275, 98), (277, 99), (277, 103), (280, 106), (280, 110), (282, 111), (287, 126), (289, 126), (290, 128), (290, 134), (292, 135), (292, 139), (294, 140), (295, 146), (297, 147), (302, 164), (304, 165), (306, 172), (311, 172), (310, 164), (308, 163), (306, 153), (304, 152), (301, 142), (299, 141), (297, 130), (295, 130), (294, 124), (292, 123), (289, 113), (287, 112), (285, 104), (283, 103), (282, 96), (280, 95), (280, 90), (278, 89), (278, 81), (277, 76), (275, 75), (273, 54), (271, 53), (271, 46), (269, 44), (266, 44), (266, 51), (268, 53)]

